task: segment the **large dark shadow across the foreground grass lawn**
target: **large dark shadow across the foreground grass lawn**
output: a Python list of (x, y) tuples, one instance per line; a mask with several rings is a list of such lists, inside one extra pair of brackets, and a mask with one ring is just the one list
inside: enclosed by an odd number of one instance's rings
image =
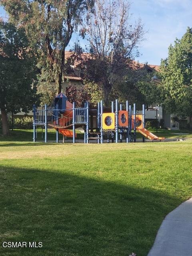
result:
[[(164, 192), (33, 169), (0, 168), (0, 255), (146, 256), (166, 214), (181, 200)], [(100, 176), (101, 175), (101, 176)]]

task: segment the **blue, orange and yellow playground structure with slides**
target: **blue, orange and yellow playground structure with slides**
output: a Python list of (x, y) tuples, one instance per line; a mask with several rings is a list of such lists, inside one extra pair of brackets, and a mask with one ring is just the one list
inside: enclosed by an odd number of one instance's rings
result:
[[(115, 106), (114, 106), (115, 105)], [(42, 110), (38, 110), (33, 106), (33, 141), (36, 141), (37, 127), (45, 128), (45, 142), (47, 142), (48, 126), (56, 129), (56, 142), (58, 143), (58, 134), (73, 138), (76, 142), (76, 127), (84, 126), (84, 143), (96, 140), (97, 143), (103, 143), (104, 138), (107, 142), (136, 142), (136, 131), (145, 137), (154, 140), (163, 140), (157, 137), (147, 129), (145, 129), (145, 106), (142, 105), (142, 114), (136, 114), (136, 104), (132, 106), (126, 101), (126, 108), (123, 109), (122, 104), (118, 104), (115, 100), (111, 104), (110, 109), (104, 109), (103, 101), (97, 104), (97, 108), (90, 108), (89, 102), (84, 103), (84, 107), (76, 108), (75, 102), (68, 102), (68, 98), (60, 93), (55, 97), (53, 106), (49, 107), (45, 104)], [(94, 126), (95, 117), (95, 126)], [(70, 130), (72, 128), (72, 130)]]

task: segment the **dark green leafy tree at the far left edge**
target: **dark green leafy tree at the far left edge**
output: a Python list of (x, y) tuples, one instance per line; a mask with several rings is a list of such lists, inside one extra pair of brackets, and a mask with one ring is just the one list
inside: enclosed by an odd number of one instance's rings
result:
[(36, 98), (35, 62), (23, 28), (0, 22), (0, 110), (3, 135), (9, 133), (7, 113), (28, 112)]

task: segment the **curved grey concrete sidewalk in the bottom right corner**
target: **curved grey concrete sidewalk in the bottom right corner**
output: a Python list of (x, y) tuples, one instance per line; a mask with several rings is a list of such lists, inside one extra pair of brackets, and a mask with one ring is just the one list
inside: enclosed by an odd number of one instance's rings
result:
[(170, 212), (148, 256), (192, 256), (192, 198)]

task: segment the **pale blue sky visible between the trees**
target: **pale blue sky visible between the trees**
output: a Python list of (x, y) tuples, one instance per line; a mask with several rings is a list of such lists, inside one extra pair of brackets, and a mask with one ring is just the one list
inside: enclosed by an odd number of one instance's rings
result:
[[(141, 18), (148, 33), (140, 45), (142, 63), (159, 65), (166, 58), (168, 46), (175, 38), (181, 38), (188, 26), (192, 27), (192, 0), (132, 0), (132, 21)], [(0, 17), (6, 16), (0, 7)], [(72, 42), (78, 40), (74, 34)]]

